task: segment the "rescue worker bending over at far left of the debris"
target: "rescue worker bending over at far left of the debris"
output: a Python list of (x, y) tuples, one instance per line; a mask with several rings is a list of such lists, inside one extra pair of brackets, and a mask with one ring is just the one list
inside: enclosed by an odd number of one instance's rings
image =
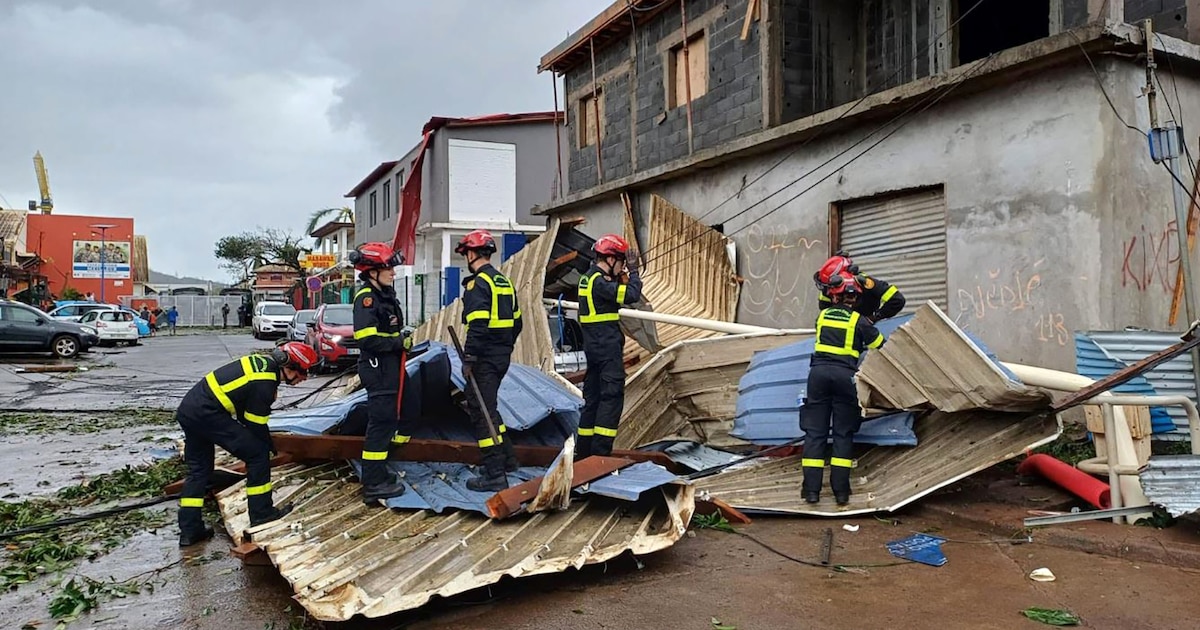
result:
[(275, 521), (292, 511), (271, 500), (271, 452), (275, 446), (266, 428), (280, 380), (298, 385), (317, 365), (317, 350), (288, 342), (269, 355), (252, 354), (209, 372), (184, 396), (175, 420), (184, 428), (184, 462), (187, 479), (179, 499), (179, 546), (188, 547), (212, 538), (200, 510), (212, 475), (214, 446), (246, 462), (246, 503), (250, 524)]

